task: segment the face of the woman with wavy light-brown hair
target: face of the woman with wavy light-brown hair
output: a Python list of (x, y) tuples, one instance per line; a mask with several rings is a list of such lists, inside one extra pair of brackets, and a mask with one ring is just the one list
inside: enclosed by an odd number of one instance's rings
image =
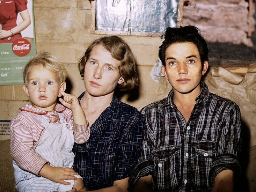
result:
[(92, 96), (113, 95), (117, 84), (124, 82), (118, 69), (120, 63), (102, 45), (96, 45), (85, 64), (83, 81), (87, 93)]

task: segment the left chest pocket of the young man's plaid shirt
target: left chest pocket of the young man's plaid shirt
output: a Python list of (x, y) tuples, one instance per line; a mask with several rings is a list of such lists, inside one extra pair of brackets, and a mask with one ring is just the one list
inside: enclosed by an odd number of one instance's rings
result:
[(180, 166), (177, 164), (181, 146), (164, 145), (153, 150), (154, 189), (171, 191), (180, 182)]

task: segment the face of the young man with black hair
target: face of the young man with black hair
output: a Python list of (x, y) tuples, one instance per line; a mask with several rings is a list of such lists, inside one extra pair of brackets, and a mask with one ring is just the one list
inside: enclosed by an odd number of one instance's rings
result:
[(166, 49), (165, 61), (166, 66), (162, 66), (162, 72), (174, 92), (200, 93), (200, 81), (207, 71), (208, 62), (205, 61), (202, 66), (195, 44), (191, 42), (171, 44)]

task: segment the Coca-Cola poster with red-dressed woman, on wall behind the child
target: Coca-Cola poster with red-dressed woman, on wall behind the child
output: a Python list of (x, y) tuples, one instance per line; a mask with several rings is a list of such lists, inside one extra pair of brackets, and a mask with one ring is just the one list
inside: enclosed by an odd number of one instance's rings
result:
[(23, 84), (22, 70), (35, 53), (34, 1), (1, 0), (0, 85)]

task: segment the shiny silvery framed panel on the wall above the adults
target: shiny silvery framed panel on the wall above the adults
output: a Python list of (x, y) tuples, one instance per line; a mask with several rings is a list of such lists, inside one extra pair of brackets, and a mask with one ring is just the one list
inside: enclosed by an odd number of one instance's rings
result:
[(183, 0), (96, 0), (91, 8), (92, 34), (161, 36), (182, 24)]

